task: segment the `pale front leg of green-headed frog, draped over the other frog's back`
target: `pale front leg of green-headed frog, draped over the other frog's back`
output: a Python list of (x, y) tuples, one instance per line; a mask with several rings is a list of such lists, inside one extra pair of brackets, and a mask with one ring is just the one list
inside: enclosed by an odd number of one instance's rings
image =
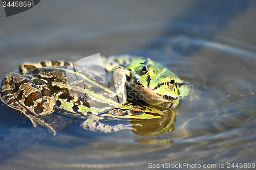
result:
[(126, 68), (122, 66), (117, 66), (113, 68), (111, 81), (115, 88), (116, 95), (122, 95), (122, 102), (120, 102), (121, 104), (124, 104), (127, 100), (127, 93), (125, 87), (127, 77), (130, 77), (130, 71)]

